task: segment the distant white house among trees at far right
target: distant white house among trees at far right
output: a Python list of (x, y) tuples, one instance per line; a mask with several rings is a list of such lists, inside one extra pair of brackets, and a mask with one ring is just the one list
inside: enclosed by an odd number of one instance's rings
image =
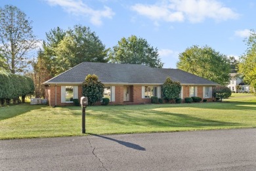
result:
[[(241, 89), (238, 89), (238, 86)], [(238, 73), (230, 73), (230, 83), (228, 88), (232, 92), (249, 92), (249, 85), (245, 85), (243, 79), (239, 77)]]

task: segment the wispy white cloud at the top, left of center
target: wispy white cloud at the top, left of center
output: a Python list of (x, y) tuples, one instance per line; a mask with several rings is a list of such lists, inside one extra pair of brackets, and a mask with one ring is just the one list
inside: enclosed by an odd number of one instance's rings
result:
[(112, 18), (114, 12), (109, 7), (104, 6), (103, 10), (94, 10), (88, 7), (81, 0), (45, 0), (51, 6), (60, 6), (66, 12), (74, 14), (75, 16), (89, 17), (91, 23), (100, 26), (102, 18)]

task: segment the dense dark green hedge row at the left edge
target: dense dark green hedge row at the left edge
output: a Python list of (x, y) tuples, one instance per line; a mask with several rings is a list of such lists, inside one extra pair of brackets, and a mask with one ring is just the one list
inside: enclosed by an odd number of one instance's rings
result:
[(10, 103), (11, 99), (14, 104), (17, 100), (25, 101), (27, 95), (33, 94), (35, 86), (32, 78), (0, 71), (0, 103)]

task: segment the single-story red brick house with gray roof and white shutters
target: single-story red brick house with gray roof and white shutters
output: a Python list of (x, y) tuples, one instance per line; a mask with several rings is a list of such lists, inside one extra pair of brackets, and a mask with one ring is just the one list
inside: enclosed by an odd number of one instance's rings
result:
[(72, 99), (82, 96), (82, 83), (88, 74), (97, 75), (104, 83), (104, 97), (110, 99), (110, 104), (148, 104), (152, 96), (161, 98), (161, 86), (167, 77), (181, 83), (182, 99), (198, 96), (212, 101), (212, 89), (217, 85), (181, 69), (82, 62), (44, 83), (49, 105), (73, 105)]

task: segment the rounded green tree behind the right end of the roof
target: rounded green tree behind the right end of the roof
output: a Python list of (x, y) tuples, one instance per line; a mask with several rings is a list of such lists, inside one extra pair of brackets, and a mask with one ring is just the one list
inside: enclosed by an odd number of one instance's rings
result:
[(177, 67), (221, 85), (230, 79), (230, 60), (211, 47), (192, 46), (179, 54)]

